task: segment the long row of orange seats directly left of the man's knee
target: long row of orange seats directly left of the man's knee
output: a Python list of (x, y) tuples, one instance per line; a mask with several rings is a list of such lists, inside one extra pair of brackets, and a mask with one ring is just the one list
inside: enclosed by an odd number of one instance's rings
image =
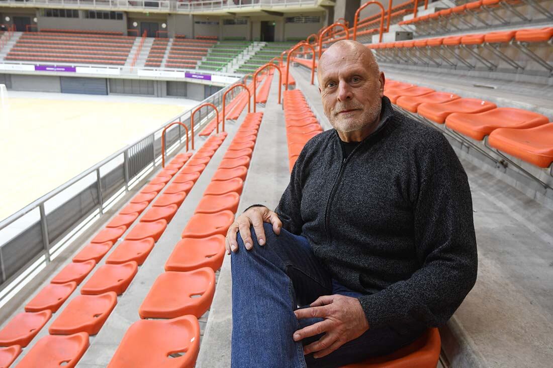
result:
[[(225, 255), (225, 235), (238, 209), (262, 118), (263, 113), (252, 113), (244, 119), (175, 244), (165, 272), (139, 307), (142, 319), (129, 327), (108, 368), (195, 365), (200, 349), (197, 319), (211, 306), (215, 271)], [(210, 147), (199, 152), (204, 149)]]

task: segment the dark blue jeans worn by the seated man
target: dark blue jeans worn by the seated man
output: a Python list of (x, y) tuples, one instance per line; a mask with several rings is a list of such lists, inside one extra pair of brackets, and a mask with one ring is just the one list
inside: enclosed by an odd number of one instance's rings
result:
[(297, 306), (309, 306), (322, 295), (358, 297), (361, 293), (334, 280), (304, 236), (284, 229), (276, 235), (270, 224), (264, 224), (264, 230), (265, 245), (260, 246), (251, 229), (250, 251), (244, 248), (238, 234), (238, 251), (231, 256), (233, 368), (340, 367), (392, 353), (424, 332), (422, 326), (400, 324), (369, 328), (327, 356), (304, 356), (303, 345), (322, 335), (297, 343), (292, 335), (322, 319), (298, 320), (293, 313)]

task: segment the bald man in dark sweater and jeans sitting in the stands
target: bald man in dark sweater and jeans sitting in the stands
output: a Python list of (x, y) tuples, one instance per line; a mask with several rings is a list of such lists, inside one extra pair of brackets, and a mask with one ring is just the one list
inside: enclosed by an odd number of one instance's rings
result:
[(334, 129), (307, 142), (275, 211), (228, 230), (232, 366), (340, 367), (447, 322), (476, 281), (467, 176), (444, 136), (395, 112), (372, 52), (317, 73)]

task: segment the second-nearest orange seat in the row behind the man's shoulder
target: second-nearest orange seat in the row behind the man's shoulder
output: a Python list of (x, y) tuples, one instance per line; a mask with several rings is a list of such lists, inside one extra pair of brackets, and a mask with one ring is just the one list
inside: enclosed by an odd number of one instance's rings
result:
[(527, 129), (546, 124), (544, 115), (523, 109), (500, 107), (479, 114), (454, 113), (446, 118), (446, 126), (476, 140), (483, 140), (498, 128)]

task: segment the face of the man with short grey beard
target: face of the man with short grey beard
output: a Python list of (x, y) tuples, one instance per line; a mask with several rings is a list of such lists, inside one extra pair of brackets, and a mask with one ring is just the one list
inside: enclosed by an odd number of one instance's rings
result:
[(370, 67), (363, 51), (328, 51), (319, 64), (319, 89), (332, 127), (348, 133), (377, 124), (384, 94), (383, 73)]

